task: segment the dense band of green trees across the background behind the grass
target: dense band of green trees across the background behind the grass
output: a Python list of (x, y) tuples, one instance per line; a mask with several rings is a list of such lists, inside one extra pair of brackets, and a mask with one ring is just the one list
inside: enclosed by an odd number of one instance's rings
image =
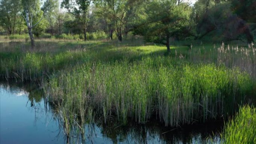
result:
[[(141, 35), (170, 51), (170, 40), (242, 40), (256, 35), (256, 0), (1, 0), (0, 34)], [(209, 39), (210, 38), (210, 39)]]

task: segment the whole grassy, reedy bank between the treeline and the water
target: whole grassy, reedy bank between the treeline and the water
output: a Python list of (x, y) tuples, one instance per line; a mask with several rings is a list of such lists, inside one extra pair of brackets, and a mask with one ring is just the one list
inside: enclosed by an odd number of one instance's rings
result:
[(170, 55), (140, 40), (0, 45), (1, 79), (44, 82), (66, 117), (179, 126), (233, 114), (255, 94), (253, 45), (171, 46)]

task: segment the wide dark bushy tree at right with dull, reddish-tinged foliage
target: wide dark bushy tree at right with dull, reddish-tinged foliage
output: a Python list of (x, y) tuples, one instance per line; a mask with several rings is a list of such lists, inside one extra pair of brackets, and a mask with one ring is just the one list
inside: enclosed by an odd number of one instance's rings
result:
[(217, 41), (231, 41), (245, 35), (249, 43), (253, 41), (249, 26), (231, 10), (234, 1), (207, 1), (199, 0), (193, 7), (192, 19), (196, 23), (198, 39), (211, 35), (211, 39)]

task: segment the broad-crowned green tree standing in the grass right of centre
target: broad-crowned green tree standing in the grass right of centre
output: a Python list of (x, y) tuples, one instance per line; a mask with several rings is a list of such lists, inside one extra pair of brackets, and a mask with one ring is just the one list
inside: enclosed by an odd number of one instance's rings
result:
[(145, 4), (140, 27), (135, 33), (142, 34), (146, 41), (162, 43), (170, 52), (170, 37), (179, 36), (186, 30), (190, 9), (189, 4), (176, 0), (152, 0)]

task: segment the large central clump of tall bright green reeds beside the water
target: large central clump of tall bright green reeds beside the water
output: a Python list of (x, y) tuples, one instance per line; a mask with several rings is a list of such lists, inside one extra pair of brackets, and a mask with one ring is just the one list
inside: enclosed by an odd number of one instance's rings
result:
[(170, 57), (88, 62), (70, 72), (60, 71), (48, 84), (51, 100), (69, 110), (85, 101), (82, 107), (95, 110), (105, 122), (113, 116), (122, 123), (156, 118), (166, 126), (233, 114), (253, 87), (249, 75), (239, 70)]

